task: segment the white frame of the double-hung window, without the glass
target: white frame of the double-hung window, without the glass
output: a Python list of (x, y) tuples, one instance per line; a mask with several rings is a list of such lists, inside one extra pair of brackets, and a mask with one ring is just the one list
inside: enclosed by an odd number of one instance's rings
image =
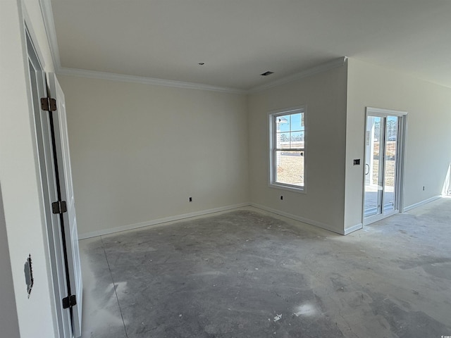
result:
[[(304, 113), (304, 148), (302, 149), (285, 149), (287, 151), (303, 151), (304, 152), (304, 186), (300, 187), (295, 184), (288, 184), (276, 181), (276, 151), (281, 150), (276, 148), (276, 118), (281, 115), (292, 115), (297, 113)], [(307, 193), (307, 106), (296, 106), (292, 108), (279, 109), (268, 113), (268, 139), (269, 139), (269, 157), (268, 157), (268, 186), (277, 189), (289, 190), (291, 192), (298, 192), (301, 194)]]

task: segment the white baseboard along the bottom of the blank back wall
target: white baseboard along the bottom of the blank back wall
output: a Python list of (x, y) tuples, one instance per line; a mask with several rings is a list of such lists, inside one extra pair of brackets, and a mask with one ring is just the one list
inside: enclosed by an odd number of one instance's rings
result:
[(251, 204), (249, 203), (241, 203), (241, 204), (233, 204), (231, 206), (221, 206), (219, 208), (213, 208), (213, 209), (208, 209), (208, 210), (203, 210), (203, 211), (195, 211), (194, 213), (183, 213), (182, 215), (175, 215), (175, 216), (170, 216), (170, 217), (165, 217), (165, 218), (158, 218), (156, 220), (149, 220), (147, 222), (141, 222), (141, 223), (135, 223), (135, 224), (130, 224), (130, 225), (123, 225), (121, 227), (113, 227), (111, 229), (104, 229), (104, 230), (98, 230), (98, 231), (93, 231), (93, 232), (86, 232), (84, 234), (78, 234), (78, 239), (87, 239), (87, 238), (91, 238), (91, 237), (97, 237), (97, 236), (102, 236), (104, 234), (113, 234), (116, 232), (121, 232), (121, 231), (125, 231), (125, 230), (133, 230), (133, 229), (137, 229), (139, 227), (149, 227), (152, 225), (159, 225), (161, 223), (168, 223), (168, 222), (172, 222), (174, 220), (183, 220), (185, 218), (192, 218), (192, 217), (196, 217), (196, 216), (202, 216), (202, 215), (207, 215), (209, 213), (218, 213), (221, 211), (228, 211), (228, 210), (232, 210), (232, 209), (236, 209), (236, 208), (242, 208), (243, 206), (250, 206)]

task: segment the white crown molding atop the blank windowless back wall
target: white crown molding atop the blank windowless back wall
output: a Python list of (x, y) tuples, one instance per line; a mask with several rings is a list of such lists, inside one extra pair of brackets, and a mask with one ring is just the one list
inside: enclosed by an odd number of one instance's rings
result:
[(98, 72), (96, 70), (83, 70), (83, 69), (78, 69), (78, 68), (60, 67), (56, 73), (58, 75), (90, 77), (90, 78), (101, 79), (101, 80), (135, 82), (135, 83), (140, 83), (140, 84), (154, 84), (157, 86), (209, 90), (212, 92), (223, 92), (223, 93), (230, 93), (230, 94), (247, 94), (247, 92), (242, 89), (211, 86), (210, 84), (200, 84), (200, 83), (194, 83), (194, 82), (183, 82), (183, 81), (175, 81), (175, 80), (163, 80), (163, 79), (156, 79), (153, 77), (106, 73), (106, 72)]

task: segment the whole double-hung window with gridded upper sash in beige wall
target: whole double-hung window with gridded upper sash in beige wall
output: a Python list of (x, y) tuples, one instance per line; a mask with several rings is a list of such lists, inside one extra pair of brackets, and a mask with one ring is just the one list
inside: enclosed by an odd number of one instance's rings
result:
[(269, 115), (271, 186), (305, 191), (305, 108)]

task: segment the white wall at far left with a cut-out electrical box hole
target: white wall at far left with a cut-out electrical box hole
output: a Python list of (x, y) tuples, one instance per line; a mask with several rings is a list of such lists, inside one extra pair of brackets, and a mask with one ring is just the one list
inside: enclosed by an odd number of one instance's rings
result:
[[(27, 1), (27, 8), (30, 27), (35, 29), (35, 43), (40, 49), (47, 49), (40, 29), (43, 25), (38, 1)], [(22, 338), (51, 338), (56, 337), (56, 326), (21, 1), (0, 1), (0, 43), (0, 182), (18, 327)], [(51, 69), (51, 60), (45, 63)], [(29, 254), (35, 273), (30, 298), (24, 275)], [(3, 292), (11, 292), (11, 287), (2, 282), (0, 293)], [(15, 311), (7, 306), (8, 303), (0, 303), (1, 313)], [(3, 326), (1, 330), (3, 337)], [(15, 331), (13, 328), (13, 334)]]

